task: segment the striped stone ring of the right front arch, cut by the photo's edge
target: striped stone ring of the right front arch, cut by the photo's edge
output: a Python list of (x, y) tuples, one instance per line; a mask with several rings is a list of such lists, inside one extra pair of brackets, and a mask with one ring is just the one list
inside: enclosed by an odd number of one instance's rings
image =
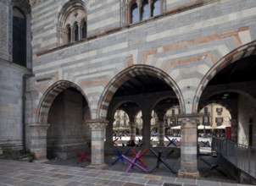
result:
[(253, 55), (256, 52), (256, 41), (252, 41), (242, 47), (231, 51), (225, 57), (222, 57), (219, 62), (214, 64), (214, 66), (209, 70), (209, 72), (203, 77), (200, 85), (198, 85), (198, 90), (196, 91), (195, 97), (192, 104), (192, 113), (198, 112), (198, 102), (199, 98), (203, 93), (203, 90), (208, 85), (209, 81), (214, 78), (215, 74), (218, 74), (220, 70), (225, 68), (227, 65), (236, 62), (237, 60)]

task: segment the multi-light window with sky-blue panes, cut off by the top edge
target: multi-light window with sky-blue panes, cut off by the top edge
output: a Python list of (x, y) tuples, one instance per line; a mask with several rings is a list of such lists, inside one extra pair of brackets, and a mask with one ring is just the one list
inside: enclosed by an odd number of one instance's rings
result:
[[(163, 12), (163, 0), (127, 0), (127, 24), (149, 19)], [(127, 19), (126, 19), (127, 20)]]

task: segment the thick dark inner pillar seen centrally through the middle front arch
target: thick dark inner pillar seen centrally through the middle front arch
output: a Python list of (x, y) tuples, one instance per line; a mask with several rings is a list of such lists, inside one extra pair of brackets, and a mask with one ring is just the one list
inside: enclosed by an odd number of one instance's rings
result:
[(143, 146), (150, 147), (150, 137), (151, 137), (151, 116), (142, 116), (143, 121), (143, 129), (142, 129), (142, 136), (143, 136)]

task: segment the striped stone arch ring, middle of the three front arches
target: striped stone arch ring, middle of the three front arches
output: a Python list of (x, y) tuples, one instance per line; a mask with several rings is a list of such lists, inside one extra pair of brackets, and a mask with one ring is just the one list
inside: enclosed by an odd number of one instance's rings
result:
[(99, 99), (98, 107), (97, 107), (97, 118), (106, 118), (109, 103), (114, 96), (116, 90), (120, 88), (120, 86), (131, 77), (135, 77), (136, 75), (147, 74), (154, 77), (157, 77), (163, 80), (167, 85), (169, 85), (172, 90), (174, 90), (175, 95), (177, 96), (178, 101), (181, 105), (181, 112), (185, 112), (185, 102), (183, 100), (181, 90), (175, 84), (175, 81), (170, 78), (170, 76), (159, 68), (154, 68), (148, 65), (132, 65), (130, 68), (125, 68), (120, 74), (117, 74), (109, 84), (103, 90), (103, 94)]

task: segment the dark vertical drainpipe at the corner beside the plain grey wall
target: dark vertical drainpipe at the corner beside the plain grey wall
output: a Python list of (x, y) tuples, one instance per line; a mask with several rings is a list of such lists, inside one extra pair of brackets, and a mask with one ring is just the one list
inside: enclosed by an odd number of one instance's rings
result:
[(34, 77), (35, 74), (24, 74), (22, 77), (22, 153), (26, 153), (25, 145), (25, 90), (26, 79)]

